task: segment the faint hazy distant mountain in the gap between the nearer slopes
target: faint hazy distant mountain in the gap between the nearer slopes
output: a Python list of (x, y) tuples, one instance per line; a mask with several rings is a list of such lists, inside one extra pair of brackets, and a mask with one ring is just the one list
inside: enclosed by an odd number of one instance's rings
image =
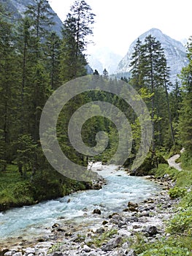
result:
[(88, 55), (88, 63), (93, 70), (97, 70), (99, 74), (107, 69), (109, 74), (113, 74), (118, 67), (119, 61), (123, 58), (107, 47), (97, 48), (90, 55)]

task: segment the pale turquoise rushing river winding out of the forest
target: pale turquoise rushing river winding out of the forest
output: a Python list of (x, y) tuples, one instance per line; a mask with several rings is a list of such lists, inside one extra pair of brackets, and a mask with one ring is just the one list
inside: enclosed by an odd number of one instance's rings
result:
[(76, 225), (95, 225), (101, 216), (93, 214), (94, 208), (100, 208), (102, 217), (107, 217), (126, 208), (128, 201), (139, 202), (160, 189), (145, 178), (127, 176), (126, 172), (115, 168), (104, 166), (98, 171), (107, 180), (107, 185), (100, 190), (75, 192), (57, 200), (0, 213), (0, 244), (7, 238), (50, 233), (50, 227), (61, 219)]

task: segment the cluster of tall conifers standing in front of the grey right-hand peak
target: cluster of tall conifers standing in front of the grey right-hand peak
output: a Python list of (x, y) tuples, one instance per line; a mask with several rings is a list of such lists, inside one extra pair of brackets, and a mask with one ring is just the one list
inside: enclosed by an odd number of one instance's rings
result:
[(171, 129), (172, 143), (174, 143), (168, 94), (169, 67), (166, 65), (161, 43), (151, 35), (145, 38), (143, 44), (138, 39), (130, 66), (131, 85), (138, 91), (147, 89), (148, 94), (151, 94), (150, 104), (147, 102), (147, 106), (151, 112), (153, 124), (152, 151), (155, 152), (155, 146), (164, 145), (164, 134), (167, 132), (168, 124)]

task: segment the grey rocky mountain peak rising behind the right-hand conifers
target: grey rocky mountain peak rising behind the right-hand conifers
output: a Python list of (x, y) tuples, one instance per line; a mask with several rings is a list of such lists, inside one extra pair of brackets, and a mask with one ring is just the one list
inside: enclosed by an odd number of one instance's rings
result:
[[(170, 67), (170, 80), (174, 83), (177, 78), (177, 74), (179, 74), (181, 69), (188, 64), (185, 47), (181, 42), (163, 34), (159, 29), (150, 29), (138, 38), (140, 41), (144, 42), (145, 37), (148, 35), (152, 35), (161, 42), (161, 46), (164, 48), (167, 65)], [(134, 53), (134, 46), (136, 45), (137, 39), (131, 43), (128, 53), (118, 64), (118, 69), (115, 72), (118, 77), (125, 74), (127, 75), (130, 72), (131, 68), (129, 67), (129, 64), (131, 62), (131, 56)]]

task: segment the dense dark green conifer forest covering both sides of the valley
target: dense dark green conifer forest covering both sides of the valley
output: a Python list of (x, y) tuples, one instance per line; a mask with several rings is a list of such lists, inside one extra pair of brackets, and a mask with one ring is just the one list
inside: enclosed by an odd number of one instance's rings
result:
[[(85, 1), (80, 1), (80, 6), (75, 1), (63, 23), (60, 38), (56, 31), (50, 31), (54, 14), (47, 1), (36, 0), (35, 4), (29, 4), (23, 18), (15, 22), (12, 22), (12, 10), (9, 12), (4, 4), (0, 5), (2, 209), (58, 197), (72, 189), (85, 189), (85, 184), (69, 181), (47, 162), (39, 142), (39, 121), (42, 108), (55, 89), (74, 78), (87, 75), (86, 49), (88, 37), (93, 34), (93, 22), (91, 7)], [(150, 153), (138, 170), (142, 175), (158, 167), (161, 160), (164, 162), (162, 156), (173, 154), (183, 147), (183, 165), (191, 166), (191, 39), (186, 50), (189, 64), (173, 84), (161, 42), (152, 35), (148, 35), (145, 42), (138, 39), (131, 57), (131, 78), (121, 78), (138, 91), (152, 119)], [(99, 73), (95, 70), (93, 74)], [(104, 70), (101, 79), (110, 80), (107, 70)], [(118, 83), (117, 80), (117, 88)], [(123, 99), (107, 95), (104, 91), (80, 94), (61, 111), (57, 133), (62, 150), (73, 162), (87, 165), (88, 157), (72, 148), (66, 131), (72, 113), (93, 100), (116, 105), (131, 122), (134, 141), (131, 155), (125, 163), (126, 167), (131, 167), (140, 143), (139, 118)], [(98, 131), (104, 130), (109, 134), (107, 150), (94, 158), (107, 162), (118, 147), (115, 125), (108, 118), (95, 116), (86, 122), (84, 128), (82, 139), (88, 146), (95, 146)], [(17, 183), (12, 184), (14, 179)]]

